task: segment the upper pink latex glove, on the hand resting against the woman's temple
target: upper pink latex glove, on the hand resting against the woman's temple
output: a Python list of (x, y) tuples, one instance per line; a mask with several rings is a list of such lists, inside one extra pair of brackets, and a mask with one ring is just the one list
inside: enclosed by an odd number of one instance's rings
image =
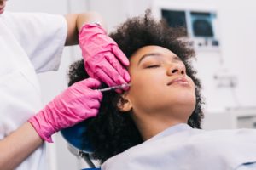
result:
[(116, 42), (97, 24), (86, 24), (79, 32), (79, 45), (84, 57), (85, 70), (108, 86), (130, 82), (124, 66), (129, 60)]

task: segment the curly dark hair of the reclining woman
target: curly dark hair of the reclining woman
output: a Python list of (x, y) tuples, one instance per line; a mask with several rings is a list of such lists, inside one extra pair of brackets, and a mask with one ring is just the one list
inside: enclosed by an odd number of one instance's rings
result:
[[(144, 17), (126, 20), (110, 34), (110, 37), (119, 44), (119, 48), (128, 58), (137, 49), (148, 45), (167, 48), (177, 54), (186, 66), (188, 76), (195, 82), (196, 105), (189, 117), (188, 124), (194, 128), (201, 128), (201, 119), (203, 118), (201, 83), (195, 77), (196, 72), (190, 63), (190, 59), (195, 57), (195, 53), (188, 47), (187, 42), (179, 39), (180, 35), (183, 35), (182, 29), (169, 27), (163, 20), (156, 21), (151, 17), (150, 11), (146, 11)], [(87, 77), (83, 60), (71, 65), (69, 85)], [(134, 145), (143, 143), (142, 136), (130, 114), (120, 114), (117, 107), (119, 99), (121, 99), (121, 94), (104, 92), (98, 116), (85, 121), (87, 131), (84, 135), (86, 135), (86, 139), (90, 140), (93, 147), (92, 156), (101, 162)]]

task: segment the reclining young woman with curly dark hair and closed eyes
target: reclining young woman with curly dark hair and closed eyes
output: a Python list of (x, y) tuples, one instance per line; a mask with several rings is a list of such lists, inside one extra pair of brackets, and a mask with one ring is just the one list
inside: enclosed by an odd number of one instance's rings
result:
[[(193, 50), (179, 29), (145, 15), (127, 20), (111, 37), (130, 59), (131, 88), (103, 92), (86, 137), (102, 169), (242, 169), (256, 166), (255, 130), (201, 130), (201, 85), (189, 63)], [(87, 77), (83, 61), (70, 84)]]

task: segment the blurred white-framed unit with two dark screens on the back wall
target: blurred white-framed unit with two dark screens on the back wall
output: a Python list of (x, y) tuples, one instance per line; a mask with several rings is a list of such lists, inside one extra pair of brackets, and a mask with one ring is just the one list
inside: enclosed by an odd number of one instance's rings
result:
[(166, 20), (168, 26), (182, 27), (182, 37), (189, 39), (195, 50), (219, 49), (216, 9), (174, 0), (155, 0), (152, 9), (153, 14)]

